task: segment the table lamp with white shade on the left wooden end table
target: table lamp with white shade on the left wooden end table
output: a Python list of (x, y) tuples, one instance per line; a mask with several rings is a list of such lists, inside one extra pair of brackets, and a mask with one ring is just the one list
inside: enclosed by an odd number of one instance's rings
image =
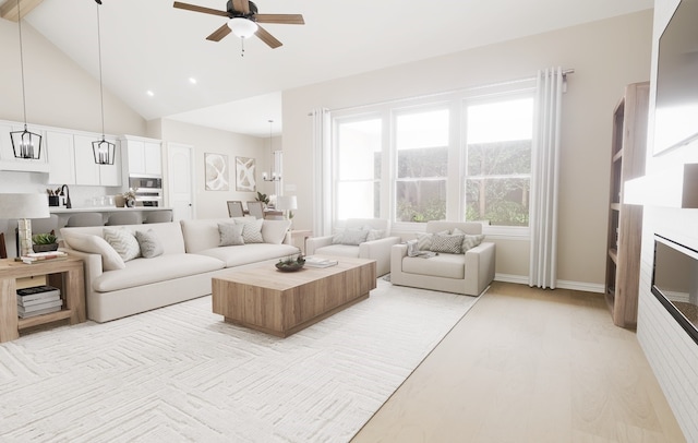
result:
[(46, 194), (0, 194), (0, 218), (16, 218), (20, 239), (20, 255), (32, 250), (32, 220), (48, 218), (48, 199)]

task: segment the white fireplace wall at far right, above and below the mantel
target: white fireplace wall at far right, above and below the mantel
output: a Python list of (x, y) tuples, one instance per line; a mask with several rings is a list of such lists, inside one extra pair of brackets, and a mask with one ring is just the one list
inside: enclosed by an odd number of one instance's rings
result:
[[(677, 4), (678, 0), (654, 1), (647, 177), (667, 166), (698, 163), (698, 143), (657, 157), (652, 147), (659, 36)], [(698, 345), (651, 292), (654, 234), (698, 249), (698, 209), (645, 206), (643, 214), (637, 336), (686, 440), (698, 442)]]

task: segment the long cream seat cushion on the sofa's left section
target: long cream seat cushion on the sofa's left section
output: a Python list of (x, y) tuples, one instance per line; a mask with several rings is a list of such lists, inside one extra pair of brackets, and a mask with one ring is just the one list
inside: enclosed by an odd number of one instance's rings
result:
[[(108, 292), (144, 286), (158, 282), (171, 280), (190, 275), (221, 270), (224, 263), (205, 255), (164, 254), (154, 259), (134, 259), (125, 264), (125, 268), (101, 274), (93, 280), (93, 289)], [(143, 288), (143, 297), (148, 289)]]

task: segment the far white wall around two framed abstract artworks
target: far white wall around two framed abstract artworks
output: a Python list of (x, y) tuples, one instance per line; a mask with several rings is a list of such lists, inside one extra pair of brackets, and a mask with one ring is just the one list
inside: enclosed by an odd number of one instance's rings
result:
[[(153, 136), (167, 140), (168, 142), (183, 143), (194, 146), (194, 192), (196, 195), (196, 214), (194, 218), (227, 217), (228, 207), (226, 201), (240, 200), (244, 202), (253, 201), (256, 197), (254, 192), (236, 191), (236, 157), (252, 157), (256, 160), (257, 190), (272, 194), (274, 187), (262, 180), (262, 171), (269, 170), (270, 151), (268, 137), (256, 137), (250, 135), (236, 134), (209, 128), (202, 128), (194, 124), (182, 123), (174, 120), (160, 120), (159, 124), (152, 124), (152, 128), (159, 125), (160, 133)], [(275, 141), (276, 147), (278, 141)], [(228, 156), (228, 182), (229, 191), (206, 191), (204, 175), (204, 154), (225, 154)]]

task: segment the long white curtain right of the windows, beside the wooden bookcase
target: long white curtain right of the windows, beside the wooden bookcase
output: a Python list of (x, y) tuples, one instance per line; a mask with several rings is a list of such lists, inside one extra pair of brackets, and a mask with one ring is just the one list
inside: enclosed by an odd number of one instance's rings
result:
[(531, 256), (529, 286), (555, 289), (557, 283), (557, 196), (559, 123), (564, 74), (538, 72), (531, 170)]

